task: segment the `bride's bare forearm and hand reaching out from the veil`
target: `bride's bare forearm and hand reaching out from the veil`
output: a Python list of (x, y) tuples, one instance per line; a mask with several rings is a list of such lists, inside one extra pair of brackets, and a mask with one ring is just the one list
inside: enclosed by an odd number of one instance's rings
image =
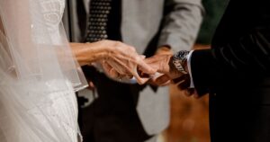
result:
[(144, 84), (148, 78), (138, 75), (137, 68), (148, 75), (156, 70), (144, 62), (136, 49), (120, 41), (101, 40), (93, 43), (71, 43), (71, 48), (81, 66), (100, 62), (109, 77), (120, 80), (134, 76), (139, 84)]

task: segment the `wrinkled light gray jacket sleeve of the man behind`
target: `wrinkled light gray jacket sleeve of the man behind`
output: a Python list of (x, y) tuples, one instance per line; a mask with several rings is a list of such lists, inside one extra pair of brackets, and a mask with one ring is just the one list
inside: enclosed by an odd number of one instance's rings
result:
[(190, 50), (202, 22), (201, 0), (166, 0), (158, 46)]

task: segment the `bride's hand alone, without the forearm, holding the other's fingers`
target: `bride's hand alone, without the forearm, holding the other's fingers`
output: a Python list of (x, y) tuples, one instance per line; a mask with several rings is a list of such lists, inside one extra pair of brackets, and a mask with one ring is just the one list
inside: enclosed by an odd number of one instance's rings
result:
[(139, 84), (144, 84), (148, 78), (138, 75), (138, 67), (143, 68), (149, 75), (156, 73), (156, 70), (144, 62), (145, 57), (140, 56), (135, 48), (119, 41), (114, 44), (108, 48), (108, 54), (100, 61), (106, 75), (120, 81), (134, 76)]

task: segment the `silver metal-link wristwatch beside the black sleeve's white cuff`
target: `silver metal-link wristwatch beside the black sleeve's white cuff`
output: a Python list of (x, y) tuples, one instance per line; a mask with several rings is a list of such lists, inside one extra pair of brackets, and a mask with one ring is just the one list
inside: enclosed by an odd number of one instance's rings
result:
[(187, 61), (188, 54), (189, 54), (189, 51), (181, 50), (175, 53), (173, 56), (173, 64), (175, 68), (183, 74), (187, 74), (187, 72), (184, 70), (184, 64)]

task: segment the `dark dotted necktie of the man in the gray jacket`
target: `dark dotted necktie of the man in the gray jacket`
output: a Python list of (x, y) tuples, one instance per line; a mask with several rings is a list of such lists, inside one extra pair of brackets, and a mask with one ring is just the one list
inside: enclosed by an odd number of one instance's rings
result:
[(94, 42), (108, 38), (107, 22), (112, 0), (91, 0), (85, 40)]

